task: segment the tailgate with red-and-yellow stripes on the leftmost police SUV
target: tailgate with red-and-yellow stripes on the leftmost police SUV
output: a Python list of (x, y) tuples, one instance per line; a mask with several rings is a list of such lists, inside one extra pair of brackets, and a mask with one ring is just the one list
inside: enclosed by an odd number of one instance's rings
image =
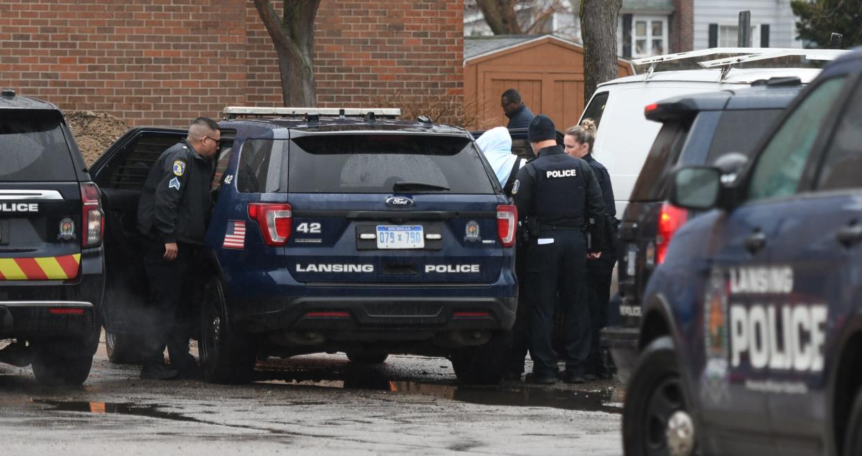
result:
[(81, 187), (59, 112), (0, 112), (0, 280), (78, 276)]

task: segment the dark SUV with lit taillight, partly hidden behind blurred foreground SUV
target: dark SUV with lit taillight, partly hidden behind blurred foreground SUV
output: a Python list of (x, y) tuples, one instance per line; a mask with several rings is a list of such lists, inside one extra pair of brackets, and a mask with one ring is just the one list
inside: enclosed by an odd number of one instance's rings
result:
[[(677, 164), (721, 165), (729, 178), (745, 164), (761, 136), (769, 131), (803, 89), (798, 78), (771, 78), (752, 88), (672, 97), (645, 108), (647, 119), (662, 122), (619, 230), (619, 326), (604, 328), (602, 346), (609, 349), (623, 382), (637, 357), (640, 305), (647, 280), (665, 259), (674, 232), (695, 214), (668, 198), (668, 176)], [(731, 158), (734, 153), (738, 159)]]

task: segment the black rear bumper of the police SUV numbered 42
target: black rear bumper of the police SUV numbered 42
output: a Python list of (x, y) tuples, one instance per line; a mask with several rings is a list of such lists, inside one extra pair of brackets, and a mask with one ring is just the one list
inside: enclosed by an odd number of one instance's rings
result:
[[(262, 302), (263, 301), (263, 302)], [(319, 331), (437, 334), (509, 330), (517, 297), (295, 297), (234, 300), (234, 328), (243, 333)], [(265, 307), (265, 312), (241, 309)]]

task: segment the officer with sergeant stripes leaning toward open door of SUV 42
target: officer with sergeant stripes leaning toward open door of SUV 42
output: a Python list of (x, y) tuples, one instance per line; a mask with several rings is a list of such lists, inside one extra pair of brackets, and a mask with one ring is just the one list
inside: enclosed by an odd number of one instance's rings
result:
[[(209, 210), (212, 160), (222, 133), (208, 117), (191, 122), (189, 134), (153, 164), (138, 203), (144, 269), (150, 284), (141, 378), (167, 380), (196, 374), (183, 313), (184, 279), (203, 245)], [(167, 345), (171, 367), (162, 351)]]

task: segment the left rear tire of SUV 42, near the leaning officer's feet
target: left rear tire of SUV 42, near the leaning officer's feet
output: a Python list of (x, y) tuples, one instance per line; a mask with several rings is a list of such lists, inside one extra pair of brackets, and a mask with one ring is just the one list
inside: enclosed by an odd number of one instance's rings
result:
[(254, 344), (231, 326), (222, 281), (210, 278), (203, 290), (198, 345), (203, 379), (209, 383), (241, 384), (252, 379), (257, 360)]

